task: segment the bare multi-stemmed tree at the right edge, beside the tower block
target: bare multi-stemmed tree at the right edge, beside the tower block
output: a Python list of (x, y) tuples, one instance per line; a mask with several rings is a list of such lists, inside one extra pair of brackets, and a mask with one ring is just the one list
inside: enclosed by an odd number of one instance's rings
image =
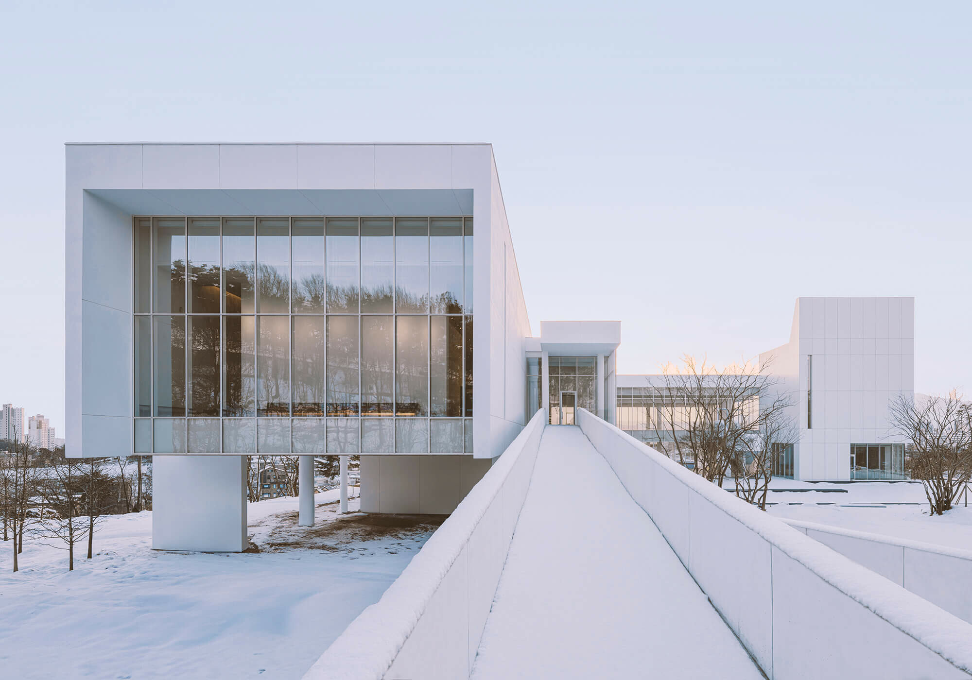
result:
[(951, 510), (972, 478), (972, 404), (958, 391), (890, 404), (892, 427), (909, 441), (905, 469), (920, 479), (932, 515)]

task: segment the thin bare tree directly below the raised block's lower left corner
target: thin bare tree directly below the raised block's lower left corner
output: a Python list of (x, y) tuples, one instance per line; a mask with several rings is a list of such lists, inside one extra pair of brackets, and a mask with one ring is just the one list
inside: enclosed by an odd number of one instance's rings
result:
[[(52, 475), (40, 485), (45, 503), (52, 513), (44, 513), (38, 522), (39, 533), (54, 541), (53, 546), (68, 552), (68, 571), (74, 570), (74, 546), (87, 536), (88, 521), (84, 513), (85, 463), (65, 459), (48, 468)], [(58, 545), (63, 543), (63, 547)]]

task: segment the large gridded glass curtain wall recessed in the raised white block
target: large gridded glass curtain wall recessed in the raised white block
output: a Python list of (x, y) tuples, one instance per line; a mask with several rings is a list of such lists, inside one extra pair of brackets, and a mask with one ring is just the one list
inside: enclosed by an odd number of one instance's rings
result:
[(137, 453), (472, 451), (469, 218), (139, 217)]

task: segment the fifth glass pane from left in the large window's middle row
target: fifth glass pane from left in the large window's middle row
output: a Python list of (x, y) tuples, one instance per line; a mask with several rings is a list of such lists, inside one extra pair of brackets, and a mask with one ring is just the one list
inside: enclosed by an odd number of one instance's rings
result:
[(291, 415), (291, 322), (288, 317), (258, 317), (257, 415)]

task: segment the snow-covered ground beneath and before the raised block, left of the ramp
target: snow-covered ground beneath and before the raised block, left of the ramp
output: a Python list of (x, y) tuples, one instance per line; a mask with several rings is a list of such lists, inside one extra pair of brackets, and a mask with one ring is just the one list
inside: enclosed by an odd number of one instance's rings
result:
[(441, 521), (342, 516), (336, 494), (315, 527), (296, 498), (251, 503), (256, 554), (153, 551), (151, 512), (110, 517), (73, 572), (25, 541), (12, 573), (0, 541), (0, 677), (299, 678)]

